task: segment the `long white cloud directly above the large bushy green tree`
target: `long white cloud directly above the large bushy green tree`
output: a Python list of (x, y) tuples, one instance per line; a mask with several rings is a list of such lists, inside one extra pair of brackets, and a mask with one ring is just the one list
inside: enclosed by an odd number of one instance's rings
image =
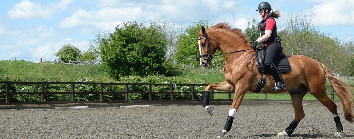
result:
[[(113, 31), (117, 25), (123, 22), (153, 19), (154, 13), (142, 11), (141, 7), (135, 8), (102, 8), (99, 11), (78, 10), (71, 17), (65, 18), (59, 23), (61, 28), (82, 27), (81, 33), (89, 34), (99, 31)], [(98, 32), (99, 32), (98, 31)]]

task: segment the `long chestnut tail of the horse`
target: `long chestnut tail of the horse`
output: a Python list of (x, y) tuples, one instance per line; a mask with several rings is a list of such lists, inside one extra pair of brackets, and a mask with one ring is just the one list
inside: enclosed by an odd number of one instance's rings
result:
[(336, 94), (338, 95), (339, 99), (342, 101), (344, 117), (347, 121), (353, 123), (353, 87), (349, 86), (346, 83), (343, 83), (342, 81), (339, 81), (335, 76), (333, 76), (332, 72), (324, 64), (320, 63), (320, 65), (325, 70), (328, 80), (332, 84), (332, 87), (336, 91)]

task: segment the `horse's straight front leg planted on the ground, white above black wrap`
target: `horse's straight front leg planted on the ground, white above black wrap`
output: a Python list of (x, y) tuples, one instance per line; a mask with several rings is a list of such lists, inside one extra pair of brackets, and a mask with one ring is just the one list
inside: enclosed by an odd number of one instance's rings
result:
[(216, 138), (223, 138), (226, 137), (226, 133), (228, 133), (232, 127), (233, 121), (234, 121), (234, 116), (237, 113), (238, 108), (241, 105), (242, 99), (244, 98), (245, 94), (247, 92), (247, 89), (244, 87), (236, 87), (234, 99), (232, 101), (231, 108), (229, 110), (229, 115), (227, 117), (224, 129), (217, 134)]

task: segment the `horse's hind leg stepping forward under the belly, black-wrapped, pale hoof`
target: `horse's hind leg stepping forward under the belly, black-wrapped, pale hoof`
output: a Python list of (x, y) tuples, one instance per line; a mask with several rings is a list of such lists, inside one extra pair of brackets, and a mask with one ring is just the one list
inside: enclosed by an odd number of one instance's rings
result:
[(289, 92), (291, 96), (292, 107), (295, 111), (295, 119), (291, 122), (289, 127), (285, 131), (278, 133), (278, 137), (289, 136), (293, 133), (299, 122), (305, 117), (304, 109), (302, 107), (302, 99), (306, 95), (306, 91), (301, 92)]

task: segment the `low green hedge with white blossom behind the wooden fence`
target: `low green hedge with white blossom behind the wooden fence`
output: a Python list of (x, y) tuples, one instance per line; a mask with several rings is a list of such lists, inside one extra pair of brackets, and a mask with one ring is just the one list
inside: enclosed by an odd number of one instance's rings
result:
[[(6, 76), (0, 75), (0, 81), (21, 81), (21, 82), (105, 82), (105, 83), (156, 83), (156, 84), (205, 84), (203, 80), (189, 80), (180, 77), (155, 76), (126, 76), (120, 81), (110, 78), (91, 79), (90, 77), (74, 78), (72, 81), (63, 81), (53, 77), (28, 77), (28, 76)], [(10, 84), (11, 92), (40, 92), (40, 84)], [(205, 86), (196, 86), (195, 91), (204, 91)], [(152, 86), (154, 92), (169, 92), (170, 86)], [(130, 85), (130, 91), (148, 91), (148, 86)], [(0, 91), (5, 92), (5, 84), (0, 84)], [(45, 84), (46, 92), (69, 92), (70, 84)], [(76, 84), (75, 91), (100, 91), (97, 84)], [(104, 85), (104, 91), (125, 91), (124, 85)], [(176, 92), (190, 92), (190, 86), (177, 86)], [(153, 100), (170, 100), (171, 94), (152, 94)], [(176, 100), (191, 99), (192, 94), (174, 94)], [(202, 99), (202, 94), (197, 94), (195, 99)], [(75, 101), (98, 101), (99, 94), (75, 94)], [(125, 100), (125, 94), (104, 94), (104, 100)], [(129, 94), (129, 100), (149, 100), (149, 94)], [(45, 101), (71, 101), (70, 94), (46, 94)], [(0, 102), (5, 102), (5, 95), (0, 95)], [(10, 102), (40, 102), (40, 94), (16, 94), (10, 95)]]

